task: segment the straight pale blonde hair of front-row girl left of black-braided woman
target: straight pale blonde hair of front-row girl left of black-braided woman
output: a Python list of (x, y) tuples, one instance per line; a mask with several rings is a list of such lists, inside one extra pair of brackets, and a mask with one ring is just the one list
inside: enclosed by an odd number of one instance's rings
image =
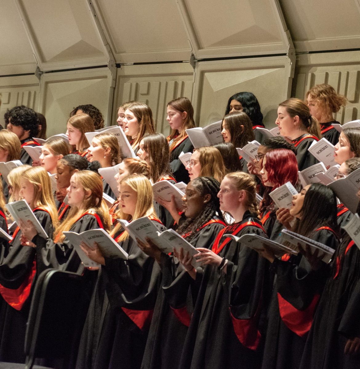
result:
[[(125, 214), (120, 209), (116, 212), (116, 218), (125, 219), (127, 221), (136, 220), (141, 217), (153, 217), (158, 219), (158, 216), (154, 210), (154, 201), (153, 201), (153, 193), (150, 181), (147, 177), (141, 174), (132, 174), (127, 176), (121, 181), (121, 184), (127, 184), (131, 189), (133, 189), (137, 194), (136, 200), (136, 208), (134, 217), (131, 217), (130, 214)], [(139, 196), (140, 195), (140, 196)], [(116, 227), (112, 230), (110, 235), (115, 235), (116, 232), (120, 229), (121, 225), (117, 224)], [(119, 237), (118, 241), (124, 241), (129, 237), (128, 233), (124, 231)]]

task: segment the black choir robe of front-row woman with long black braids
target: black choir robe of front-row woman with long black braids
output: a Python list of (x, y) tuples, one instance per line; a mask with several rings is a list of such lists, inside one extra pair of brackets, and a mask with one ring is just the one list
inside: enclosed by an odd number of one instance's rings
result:
[[(209, 248), (216, 235), (225, 227), (219, 220), (204, 225), (189, 241), (195, 248)], [(186, 235), (183, 235), (185, 237)], [(186, 237), (185, 237), (186, 239)], [(161, 255), (162, 283), (159, 290), (154, 315), (145, 347), (142, 369), (177, 368), (182, 345), (195, 305), (195, 296), (189, 296), (193, 279), (184, 270), (178, 259)], [(180, 276), (183, 274), (182, 276)], [(179, 277), (179, 278), (178, 278)], [(194, 294), (195, 295), (195, 294)]]

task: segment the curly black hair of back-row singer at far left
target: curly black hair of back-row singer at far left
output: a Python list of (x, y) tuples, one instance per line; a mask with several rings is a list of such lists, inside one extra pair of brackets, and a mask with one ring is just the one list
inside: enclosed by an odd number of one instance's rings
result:
[(29, 137), (37, 137), (39, 132), (39, 118), (34, 110), (25, 105), (15, 106), (4, 114), (5, 127), (10, 122), (30, 131)]

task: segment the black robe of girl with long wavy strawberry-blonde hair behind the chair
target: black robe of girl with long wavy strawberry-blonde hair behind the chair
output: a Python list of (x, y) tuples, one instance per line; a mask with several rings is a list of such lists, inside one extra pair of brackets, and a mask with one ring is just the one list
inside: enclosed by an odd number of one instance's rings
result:
[[(72, 225), (70, 231), (81, 233), (97, 228), (100, 228), (100, 225), (96, 218), (91, 214), (86, 214)], [(51, 238), (44, 239), (36, 235), (32, 242), (36, 245), (38, 273), (48, 268), (75, 273), (83, 272), (84, 268), (80, 258), (68, 240), (65, 239), (64, 242), (55, 243)]]

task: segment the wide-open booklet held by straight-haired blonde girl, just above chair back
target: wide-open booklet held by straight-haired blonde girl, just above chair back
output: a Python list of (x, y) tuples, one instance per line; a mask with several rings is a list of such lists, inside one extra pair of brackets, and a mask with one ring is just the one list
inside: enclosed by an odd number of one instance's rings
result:
[(117, 244), (117, 242), (114, 241), (102, 228), (81, 232), (80, 234), (76, 232), (63, 233), (74, 246), (76, 252), (79, 255), (79, 258), (86, 267), (100, 265), (89, 259), (88, 256), (86, 256), (86, 254), (82, 251), (79, 246), (81, 241), (84, 242), (90, 249), (94, 248), (94, 242), (96, 242), (99, 245), (100, 251), (105, 257), (114, 259), (128, 258), (127, 252), (119, 244)]

